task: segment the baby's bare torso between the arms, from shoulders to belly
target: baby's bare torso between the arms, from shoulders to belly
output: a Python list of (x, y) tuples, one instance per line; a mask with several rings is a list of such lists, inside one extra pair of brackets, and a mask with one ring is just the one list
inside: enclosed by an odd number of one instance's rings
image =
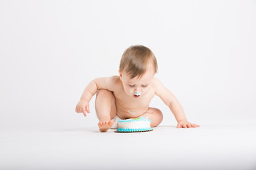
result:
[(118, 83), (113, 91), (117, 106), (117, 115), (119, 118), (137, 118), (145, 113), (149, 108), (149, 103), (154, 97), (155, 90), (151, 87), (146, 94), (142, 94), (139, 98), (128, 96), (125, 94), (122, 83)]

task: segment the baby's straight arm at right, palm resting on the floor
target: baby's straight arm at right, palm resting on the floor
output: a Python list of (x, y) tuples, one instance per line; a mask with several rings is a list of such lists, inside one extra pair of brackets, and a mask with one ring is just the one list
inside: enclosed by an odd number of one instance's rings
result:
[(178, 122), (177, 128), (199, 127), (199, 125), (188, 122), (181, 104), (178, 102), (174, 94), (172, 94), (169, 89), (166, 89), (159, 79), (155, 78), (154, 84), (156, 88), (156, 96), (159, 96), (161, 100), (164, 101), (167, 106), (169, 106), (171, 112), (174, 114), (174, 117)]

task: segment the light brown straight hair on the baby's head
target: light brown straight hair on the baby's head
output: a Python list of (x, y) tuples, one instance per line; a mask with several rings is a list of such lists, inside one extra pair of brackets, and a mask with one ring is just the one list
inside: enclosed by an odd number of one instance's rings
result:
[(129, 75), (131, 79), (139, 76), (141, 78), (146, 72), (147, 64), (151, 62), (154, 72), (157, 72), (157, 61), (154, 53), (143, 45), (132, 45), (124, 51), (119, 70)]

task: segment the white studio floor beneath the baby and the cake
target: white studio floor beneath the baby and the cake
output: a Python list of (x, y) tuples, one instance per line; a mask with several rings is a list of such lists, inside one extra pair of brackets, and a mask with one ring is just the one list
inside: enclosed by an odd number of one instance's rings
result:
[(0, 169), (256, 169), (256, 124), (1, 130)]

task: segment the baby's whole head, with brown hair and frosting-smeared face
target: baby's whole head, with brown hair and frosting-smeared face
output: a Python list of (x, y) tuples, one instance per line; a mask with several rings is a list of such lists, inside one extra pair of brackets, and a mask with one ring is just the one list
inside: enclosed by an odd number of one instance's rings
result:
[(124, 51), (119, 66), (119, 75), (127, 94), (135, 98), (146, 94), (156, 72), (156, 57), (148, 47), (133, 45)]

